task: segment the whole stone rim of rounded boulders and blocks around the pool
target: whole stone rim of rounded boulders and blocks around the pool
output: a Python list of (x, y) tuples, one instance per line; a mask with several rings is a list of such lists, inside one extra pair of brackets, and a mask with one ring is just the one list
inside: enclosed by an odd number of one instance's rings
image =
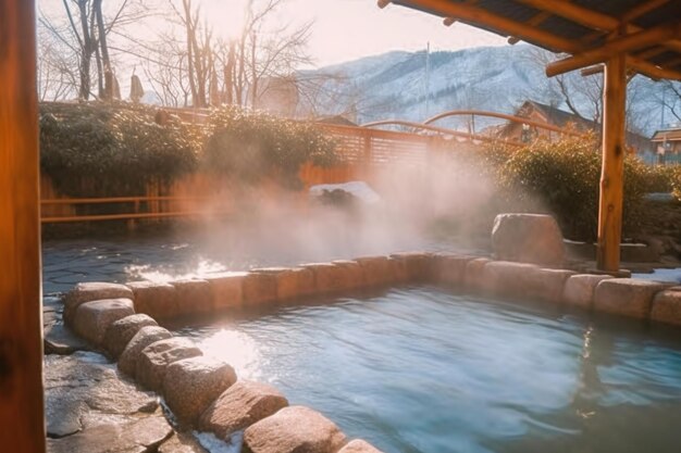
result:
[[(681, 287), (672, 284), (425, 252), (256, 268), (168, 284), (78, 284), (64, 298), (64, 322), (117, 360), (123, 373), (163, 395), (177, 419), (227, 442), (240, 436), (245, 452), (276, 452), (277, 444), (305, 444), (320, 453), (377, 452), (361, 440), (348, 443), (320, 413), (288, 406), (271, 386), (238, 379), (228, 364), (205, 357), (188, 339), (158, 326), (156, 318), (286, 305), (302, 298), (403, 284), (435, 284), (453, 291), (681, 326)], [(235, 413), (240, 418), (227, 415)]]

